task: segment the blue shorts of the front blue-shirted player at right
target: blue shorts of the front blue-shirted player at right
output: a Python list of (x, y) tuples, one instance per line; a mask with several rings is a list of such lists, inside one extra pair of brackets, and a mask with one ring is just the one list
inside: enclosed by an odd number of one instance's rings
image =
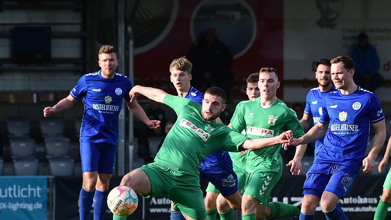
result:
[(323, 191), (329, 191), (343, 199), (360, 169), (361, 165), (358, 163), (339, 165), (315, 160), (307, 172), (303, 195), (314, 195), (320, 199)]

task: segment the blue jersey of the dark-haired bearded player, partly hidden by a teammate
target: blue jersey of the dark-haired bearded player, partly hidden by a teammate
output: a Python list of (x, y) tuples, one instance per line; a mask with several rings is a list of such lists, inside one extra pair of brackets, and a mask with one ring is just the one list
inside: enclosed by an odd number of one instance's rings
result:
[[(307, 94), (305, 99), (305, 109), (304, 113), (307, 115), (312, 115), (314, 125), (318, 124), (319, 117), (322, 115), (322, 103), (324, 96), (330, 92), (337, 91), (335, 87), (332, 87), (331, 90), (326, 92), (321, 92), (320, 87), (311, 89)], [(318, 152), (320, 145), (323, 143), (324, 136), (321, 137), (318, 141), (315, 142), (315, 153)]]

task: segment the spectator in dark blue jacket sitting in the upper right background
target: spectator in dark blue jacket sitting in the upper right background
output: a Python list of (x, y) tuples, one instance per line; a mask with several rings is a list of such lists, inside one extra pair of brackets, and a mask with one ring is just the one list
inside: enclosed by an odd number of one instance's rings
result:
[(375, 92), (382, 85), (384, 79), (378, 73), (380, 61), (376, 49), (368, 41), (368, 35), (365, 33), (360, 33), (357, 36), (357, 45), (352, 51), (352, 59), (356, 64), (353, 78), (357, 85)]

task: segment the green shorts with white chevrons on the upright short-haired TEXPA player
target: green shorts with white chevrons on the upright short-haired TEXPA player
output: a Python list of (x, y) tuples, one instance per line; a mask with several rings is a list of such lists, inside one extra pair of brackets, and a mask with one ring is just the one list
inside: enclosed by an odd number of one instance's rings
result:
[(262, 205), (269, 205), (270, 193), (281, 178), (282, 172), (259, 172), (246, 174), (244, 194), (259, 200)]

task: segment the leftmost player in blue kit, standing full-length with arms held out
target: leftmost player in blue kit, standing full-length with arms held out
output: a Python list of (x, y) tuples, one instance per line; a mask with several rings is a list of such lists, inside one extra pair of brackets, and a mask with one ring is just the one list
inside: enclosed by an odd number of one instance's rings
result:
[(80, 129), (80, 156), (83, 185), (79, 195), (80, 219), (89, 219), (94, 204), (94, 219), (103, 219), (106, 212), (108, 183), (114, 169), (118, 145), (118, 117), (122, 100), (129, 110), (149, 128), (158, 128), (160, 121), (149, 120), (137, 102), (130, 102), (132, 84), (117, 73), (119, 61), (114, 46), (99, 49), (101, 70), (80, 77), (70, 95), (52, 107), (43, 109), (44, 117), (65, 111), (82, 98), (84, 114)]

